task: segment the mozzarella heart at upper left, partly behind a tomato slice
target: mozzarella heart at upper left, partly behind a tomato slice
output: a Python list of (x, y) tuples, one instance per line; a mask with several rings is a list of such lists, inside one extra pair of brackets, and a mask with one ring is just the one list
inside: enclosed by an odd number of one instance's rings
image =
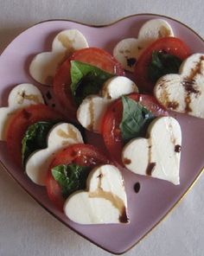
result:
[(73, 51), (88, 48), (84, 35), (77, 29), (67, 29), (55, 36), (52, 51), (35, 55), (29, 73), (39, 83), (51, 86), (56, 69)]

